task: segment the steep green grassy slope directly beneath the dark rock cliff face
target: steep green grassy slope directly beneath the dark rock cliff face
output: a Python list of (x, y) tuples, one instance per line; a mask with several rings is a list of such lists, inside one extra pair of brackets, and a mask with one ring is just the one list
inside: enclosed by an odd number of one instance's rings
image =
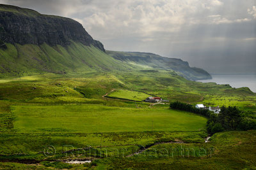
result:
[(0, 49), (1, 76), (53, 72), (66, 73), (74, 71), (110, 71), (134, 68), (129, 64), (113, 59), (94, 46), (84, 46), (72, 42), (60, 45), (11, 45)]

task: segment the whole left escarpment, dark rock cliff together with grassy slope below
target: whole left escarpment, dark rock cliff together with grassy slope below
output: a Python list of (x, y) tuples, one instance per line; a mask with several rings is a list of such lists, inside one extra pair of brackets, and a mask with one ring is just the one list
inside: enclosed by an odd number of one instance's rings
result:
[(0, 4), (0, 76), (131, 68), (105, 53), (79, 22)]

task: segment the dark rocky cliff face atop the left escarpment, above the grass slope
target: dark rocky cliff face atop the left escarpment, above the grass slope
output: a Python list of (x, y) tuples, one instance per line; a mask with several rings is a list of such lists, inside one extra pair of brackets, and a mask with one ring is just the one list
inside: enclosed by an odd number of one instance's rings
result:
[(102, 43), (94, 40), (75, 20), (4, 4), (0, 4), (0, 40), (19, 45), (47, 43), (51, 46), (67, 46), (72, 40), (104, 51)]

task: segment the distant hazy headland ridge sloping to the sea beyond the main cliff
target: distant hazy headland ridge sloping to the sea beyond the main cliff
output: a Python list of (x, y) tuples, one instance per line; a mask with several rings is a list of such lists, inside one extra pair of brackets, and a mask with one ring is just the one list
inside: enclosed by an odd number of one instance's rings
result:
[(188, 62), (181, 59), (162, 57), (154, 53), (142, 52), (114, 52), (107, 51), (116, 60), (136, 64), (138, 66), (151, 67), (152, 69), (172, 69), (180, 76), (188, 80), (211, 79), (211, 75), (204, 69), (189, 67)]

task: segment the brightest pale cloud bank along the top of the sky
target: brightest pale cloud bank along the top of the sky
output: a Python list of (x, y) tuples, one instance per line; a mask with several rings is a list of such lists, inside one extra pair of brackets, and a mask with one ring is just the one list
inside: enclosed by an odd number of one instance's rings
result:
[[(83, 8), (79, 13), (91, 12), (91, 15), (86, 14), (79, 20), (83, 20), (84, 27), (93, 36), (104, 39), (131, 35), (147, 38), (157, 32), (179, 32), (182, 27), (190, 25), (232, 24), (251, 20), (246, 15), (229, 15), (225, 9), (228, 5), (219, 0), (93, 0), (79, 7)], [(252, 12), (246, 10), (245, 13)], [(65, 11), (65, 14), (76, 15), (76, 11), (70, 11)]]

